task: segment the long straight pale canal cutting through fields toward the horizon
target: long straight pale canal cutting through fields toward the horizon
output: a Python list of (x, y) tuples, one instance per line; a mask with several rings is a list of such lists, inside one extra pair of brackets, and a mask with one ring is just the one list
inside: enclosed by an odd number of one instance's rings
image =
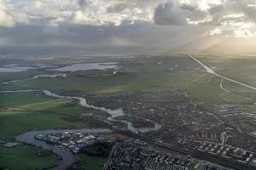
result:
[(217, 72), (213, 71), (209, 66), (205, 65), (204, 63), (202, 63), (199, 59), (196, 59), (195, 57), (193, 57), (191, 54), (187, 54), (191, 59), (194, 59), (197, 63), (199, 63), (201, 66), (203, 66), (208, 73), (212, 74), (212, 75), (215, 75), (216, 77), (220, 77), (220, 78), (223, 78), (224, 80), (227, 80), (227, 81), (230, 81), (230, 82), (234, 82), (238, 85), (241, 85), (242, 87), (245, 87), (245, 88), (250, 88), (250, 89), (253, 89), (253, 90), (256, 90), (255, 87), (249, 85), (249, 84), (246, 84), (244, 82), (239, 82), (239, 81), (236, 81), (230, 77), (225, 77), (223, 75), (220, 75), (218, 74)]

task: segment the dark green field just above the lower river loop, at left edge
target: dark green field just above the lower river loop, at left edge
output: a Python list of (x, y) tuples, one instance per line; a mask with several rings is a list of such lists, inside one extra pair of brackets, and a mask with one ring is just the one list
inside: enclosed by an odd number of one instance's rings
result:
[(61, 115), (45, 112), (0, 112), (0, 139), (10, 139), (15, 135), (32, 129), (81, 128), (86, 124), (67, 122)]

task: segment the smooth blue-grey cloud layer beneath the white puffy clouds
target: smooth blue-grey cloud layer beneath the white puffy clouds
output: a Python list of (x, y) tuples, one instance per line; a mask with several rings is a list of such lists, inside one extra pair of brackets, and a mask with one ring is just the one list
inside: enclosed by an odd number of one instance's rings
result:
[[(185, 29), (185, 28), (184, 28)], [(205, 30), (137, 21), (120, 26), (15, 26), (0, 29), (1, 54), (152, 54), (170, 50)], [(1, 38), (0, 38), (1, 39)]]

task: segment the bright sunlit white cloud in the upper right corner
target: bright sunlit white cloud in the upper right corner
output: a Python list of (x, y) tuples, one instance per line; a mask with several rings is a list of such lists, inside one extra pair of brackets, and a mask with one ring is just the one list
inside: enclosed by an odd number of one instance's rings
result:
[(254, 37), (256, 35), (256, 6), (251, 0), (229, 0), (212, 6), (208, 13), (213, 26), (210, 35), (222, 34), (232, 37)]

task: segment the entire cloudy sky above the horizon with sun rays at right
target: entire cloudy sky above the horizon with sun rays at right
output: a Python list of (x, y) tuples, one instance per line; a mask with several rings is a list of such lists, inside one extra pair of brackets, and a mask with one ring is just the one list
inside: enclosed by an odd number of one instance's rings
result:
[(0, 54), (255, 54), (254, 0), (0, 0)]

